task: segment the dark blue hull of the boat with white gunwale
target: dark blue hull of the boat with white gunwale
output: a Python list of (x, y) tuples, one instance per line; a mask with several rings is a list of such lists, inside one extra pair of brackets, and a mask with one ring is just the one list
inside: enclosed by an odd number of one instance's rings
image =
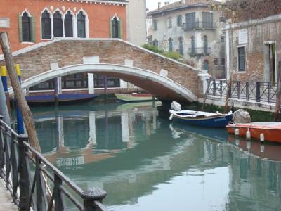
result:
[(228, 114), (224, 116), (216, 116), (216, 117), (206, 117), (206, 118), (198, 118), (198, 119), (190, 119), (185, 117), (177, 117), (174, 116), (175, 122), (181, 122), (185, 124), (193, 124), (202, 127), (226, 127), (228, 122), (232, 120), (233, 114)]

